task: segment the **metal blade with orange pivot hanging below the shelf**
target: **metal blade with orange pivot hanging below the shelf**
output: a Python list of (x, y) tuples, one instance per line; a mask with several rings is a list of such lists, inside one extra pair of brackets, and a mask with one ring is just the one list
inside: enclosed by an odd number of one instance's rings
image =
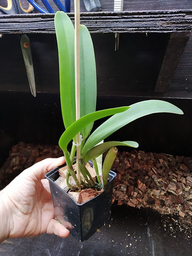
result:
[(31, 93), (34, 97), (36, 97), (35, 76), (34, 76), (34, 70), (33, 70), (31, 47), (30, 47), (30, 41), (27, 35), (21, 35), (20, 46), (23, 53), (23, 59), (26, 67), (26, 72), (29, 80)]

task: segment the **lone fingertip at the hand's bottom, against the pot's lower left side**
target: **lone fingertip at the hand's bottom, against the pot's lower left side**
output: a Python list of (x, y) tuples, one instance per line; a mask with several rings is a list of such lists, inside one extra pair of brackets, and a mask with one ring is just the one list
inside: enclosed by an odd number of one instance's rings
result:
[(52, 219), (48, 226), (47, 226), (47, 234), (55, 234), (56, 236), (60, 237), (67, 237), (69, 236), (69, 230), (65, 228), (62, 224), (58, 221)]

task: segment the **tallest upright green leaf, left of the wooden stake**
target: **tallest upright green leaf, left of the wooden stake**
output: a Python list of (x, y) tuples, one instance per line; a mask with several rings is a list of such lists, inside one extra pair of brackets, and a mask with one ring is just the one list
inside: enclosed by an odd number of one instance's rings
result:
[(64, 12), (55, 14), (55, 31), (58, 44), (61, 111), (65, 128), (76, 120), (74, 37), (75, 30)]

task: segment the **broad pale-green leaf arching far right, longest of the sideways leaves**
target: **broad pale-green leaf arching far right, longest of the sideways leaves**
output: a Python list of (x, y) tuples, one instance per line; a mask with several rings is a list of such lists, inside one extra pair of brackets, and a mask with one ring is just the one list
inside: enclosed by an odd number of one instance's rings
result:
[(106, 122), (100, 125), (84, 144), (82, 154), (85, 154), (99, 143), (99, 141), (104, 140), (124, 125), (127, 125), (142, 116), (162, 112), (183, 114), (183, 111), (175, 105), (162, 100), (146, 100), (137, 102), (131, 105), (127, 111), (111, 116)]

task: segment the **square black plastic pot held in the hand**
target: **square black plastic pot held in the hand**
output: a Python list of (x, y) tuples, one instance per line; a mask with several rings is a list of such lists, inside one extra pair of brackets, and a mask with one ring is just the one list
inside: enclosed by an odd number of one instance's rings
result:
[(84, 204), (78, 204), (55, 183), (59, 177), (58, 169), (61, 167), (57, 167), (45, 175), (49, 180), (55, 217), (70, 230), (76, 239), (84, 241), (89, 239), (110, 216), (113, 179), (116, 173), (110, 171), (110, 181), (100, 195)]

